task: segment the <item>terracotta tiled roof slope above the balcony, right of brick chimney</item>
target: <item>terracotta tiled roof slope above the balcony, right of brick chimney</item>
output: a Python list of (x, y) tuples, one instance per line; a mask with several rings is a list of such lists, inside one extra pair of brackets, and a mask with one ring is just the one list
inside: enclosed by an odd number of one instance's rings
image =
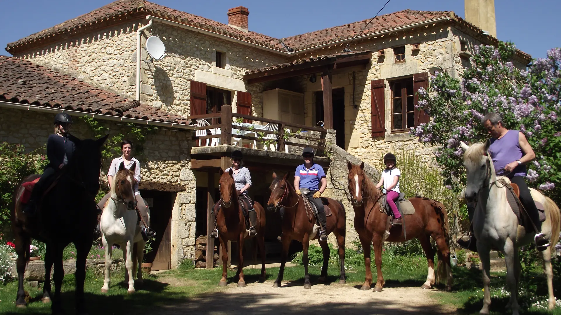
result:
[(450, 14), (453, 15), (454, 12), (413, 11), (407, 9), (375, 17), (370, 23), (369, 21), (371, 18), (346, 25), (330, 27), (329, 29), (291, 36), (284, 38), (283, 41), (288, 45), (288, 47), (295, 50), (301, 50), (322, 44), (333, 43), (338, 40), (353, 38), (360, 33), (362, 28), (365, 26), (366, 29), (362, 31), (360, 35), (378, 33), (380, 31), (395, 29), (397, 27), (435, 20), (436, 18), (448, 17)]

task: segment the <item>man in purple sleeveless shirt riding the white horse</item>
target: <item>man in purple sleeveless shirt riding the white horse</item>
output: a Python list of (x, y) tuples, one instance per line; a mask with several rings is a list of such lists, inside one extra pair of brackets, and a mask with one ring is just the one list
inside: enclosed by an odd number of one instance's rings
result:
[[(536, 247), (540, 251), (543, 251), (550, 244), (548, 239), (544, 237), (544, 234), (541, 233), (540, 216), (537, 212), (534, 199), (530, 194), (530, 189), (528, 189), (524, 180), (524, 177), (526, 177), (526, 164), (534, 160), (536, 154), (534, 150), (532, 150), (524, 134), (517, 130), (505, 128), (503, 119), (498, 114), (486, 114), (481, 119), (481, 123), (492, 137), (491, 145), (489, 146), (489, 154), (495, 166), (495, 174), (498, 176), (505, 175), (511, 179), (511, 182), (518, 185), (520, 189), (520, 201), (537, 228), (534, 237)], [(468, 211), (469, 210), (472, 212), (473, 207), (468, 207)], [(473, 238), (473, 236), (470, 241), (471, 244), (475, 244), (475, 238)], [(464, 245), (468, 246), (469, 243), (469, 241), (458, 240), (458, 245), (461, 247), (464, 247)]]

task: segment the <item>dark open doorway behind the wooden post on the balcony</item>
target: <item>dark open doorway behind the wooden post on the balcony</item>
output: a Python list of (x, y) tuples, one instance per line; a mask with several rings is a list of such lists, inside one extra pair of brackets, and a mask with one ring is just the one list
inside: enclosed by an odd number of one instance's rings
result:
[[(343, 149), (345, 147), (345, 89), (333, 89), (333, 129), (335, 133), (335, 144)], [(324, 121), (323, 116), (323, 91), (315, 92), (315, 115), (314, 123)], [(319, 126), (319, 125), (318, 125)]]

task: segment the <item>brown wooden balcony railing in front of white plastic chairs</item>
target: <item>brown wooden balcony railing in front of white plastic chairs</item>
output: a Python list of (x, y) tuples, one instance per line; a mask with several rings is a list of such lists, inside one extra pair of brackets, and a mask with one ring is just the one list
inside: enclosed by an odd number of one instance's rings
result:
[[(325, 150), (325, 136), (327, 136), (327, 129), (232, 113), (232, 106), (230, 105), (223, 105), (220, 108), (220, 113), (192, 115), (186, 118), (193, 121), (199, 121), (198, 124), (200, 125), (205, 125), (195, 127), (195, 133), (197, 133), (196, 131), (206, 130), (206, 135), (195, 135), (194, 137), (197, 144), (201, 146), (206, 146), (206, 142), (208, 142), (209, 145), (231, 145), (237, 142), (239, 145), (240, 139), (243, 139), (255, 141), (255, 143), (265, 143), (267, 147), (274, 143), (277, 151), (286, 151), (288, 146), (309, 146), (316, 149), (317, 155), (321, 156), (324, 154)], [(240, 121), (243, 119), (259, 122), (260, 124), (241, 123)], [(210, 124), (208, 122), (201, 122), (203, 120), (210, 120), (214, 123)], [(261, 126), (265, 126), (265, 124), (276, 124), (277, 128), (273, 128), (276, 129), (276, 131), (263, 129)], [(233, 134), (232, 129), (236, 130), (236, 133), (238, 134)], [(240, 134), (240, 131), (255, 132), (255, 134), (259, 136), (255, 137)], [(200, 134), (202, 133), (204, 132), (200, 132)], [(208, 133), (211, 134), (208, 135)], [(264, 137), (262, 135), (266, 136)], [(271, 137), (269, 135), (274, 136)], [(209, 141), (204, 141), (206, 139), (209, 139)]]

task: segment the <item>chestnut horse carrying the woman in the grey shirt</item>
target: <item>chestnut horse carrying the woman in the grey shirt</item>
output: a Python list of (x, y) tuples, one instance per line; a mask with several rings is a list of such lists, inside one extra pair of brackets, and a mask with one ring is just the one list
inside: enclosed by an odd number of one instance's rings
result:
[[(227, 173), (220, 169), (220, 181), (218, 182), (220, 189), (220, 201), (217, 205), (221, 203), (221, 207), (214, 207), (214, 213), (216, 214), (216, 223), (218, 229), (218, 239), (220, 241), (220, 247), (222, 251), (222, 279), (220, 279), (219, 285), (225, 286), (227, 284), (226, 280), (226, 265), (228, 262), (228, 251), (226, 244), (229, 240), (232, 242), (238, 242), (238, 247), (240, 248), (240, 262), (238, 265), (238, 271), (236, 276), (238, 277), (238, 286), (245, 286), (245, 280), (243, 279), (243, 242), (246, 239), (246, 224), (245, 216), (242, 213), (240, 203), (238, 202), (238, 196), (240, 193), (236, 190), (236, 185), (234, 184), (234, 178), (232, 177), (232, 169)], [(259, 202), (254, 202), (255, 212), (257, 214), (256, 229), (257, 235), (255, 236), (253, 242), (253, 250), (255, 252), (255, 242), (259, 245), (259, 251), (261, 252), (261, 275), (259, 276), (259, 282), (265, 281), (265, 209)]]

